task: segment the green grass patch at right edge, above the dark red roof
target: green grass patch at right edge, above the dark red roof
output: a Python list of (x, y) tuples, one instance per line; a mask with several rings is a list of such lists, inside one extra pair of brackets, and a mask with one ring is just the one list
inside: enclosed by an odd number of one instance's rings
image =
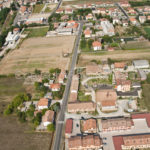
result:
[(150, 84), (143, 85), (143, 99), (139, 100), (141, 109), (150, 111)]

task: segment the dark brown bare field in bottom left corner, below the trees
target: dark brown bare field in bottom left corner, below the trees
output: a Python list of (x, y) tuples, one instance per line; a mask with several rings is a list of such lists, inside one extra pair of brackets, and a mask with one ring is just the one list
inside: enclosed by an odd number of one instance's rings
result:
[(33, 133), (15, 116), (0, 116), (0, 150), (49, 150), (51, 134)]

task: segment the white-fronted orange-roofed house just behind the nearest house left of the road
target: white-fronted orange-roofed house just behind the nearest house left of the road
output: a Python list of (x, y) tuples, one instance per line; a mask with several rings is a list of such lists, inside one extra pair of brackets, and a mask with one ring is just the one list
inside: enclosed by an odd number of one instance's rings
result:
[(37, 103), (38, 110), (47, 109), (49, 106), (50, 101), (47, 98), (41, 98)]

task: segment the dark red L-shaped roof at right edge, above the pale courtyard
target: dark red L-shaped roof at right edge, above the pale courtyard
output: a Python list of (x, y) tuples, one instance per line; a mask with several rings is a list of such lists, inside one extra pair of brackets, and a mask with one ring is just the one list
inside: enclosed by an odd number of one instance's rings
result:
[(146, 119), (148, 127), (150, 127), (150, 113), (132, 114), (132, 119)]

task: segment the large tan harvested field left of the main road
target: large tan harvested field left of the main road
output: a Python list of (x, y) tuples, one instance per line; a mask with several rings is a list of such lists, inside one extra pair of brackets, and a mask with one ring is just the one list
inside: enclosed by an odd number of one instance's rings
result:
[(35, 68), (42, 71), (54, 67), (67, 69), (70, 58), (64, 58), (62, 53), (72, 52), (74, 40), (75, 36), (28, 38), (0, 62), (0, 74), (32, 72)]

